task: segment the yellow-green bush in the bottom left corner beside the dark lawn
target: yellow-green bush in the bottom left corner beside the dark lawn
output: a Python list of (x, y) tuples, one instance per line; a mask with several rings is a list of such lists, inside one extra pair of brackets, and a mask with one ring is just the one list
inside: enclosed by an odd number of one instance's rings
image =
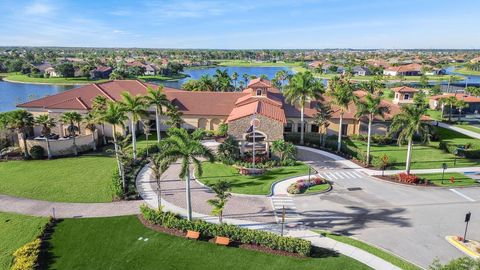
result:
[(37, 238), (25, 244), (13, 253), (12, 270), (33, 270), (36, 268), (42, 240)]

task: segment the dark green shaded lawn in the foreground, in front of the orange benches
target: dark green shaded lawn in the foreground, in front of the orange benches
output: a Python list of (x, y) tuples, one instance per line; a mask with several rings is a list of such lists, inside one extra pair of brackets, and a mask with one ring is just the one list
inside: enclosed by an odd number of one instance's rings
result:
[(150, 230), (135, 216), (63, 220), (49, 246), (48, 269), (369, 269), (326, 250), (292, 258), (190, 241)]

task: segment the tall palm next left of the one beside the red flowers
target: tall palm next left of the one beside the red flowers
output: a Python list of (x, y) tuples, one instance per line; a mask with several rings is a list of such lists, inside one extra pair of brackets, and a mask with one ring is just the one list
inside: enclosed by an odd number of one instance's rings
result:
[(384, 118), (390, 108), (382, 105), (382, 98), (368, 93), (364, 100), (357, 102), (357, 113), (355, 117), (368, 117), (368, 133), (367, 133), (367, 165), (370, 164), (370, 143), (372, 139), (372, 122), (375, 116)]

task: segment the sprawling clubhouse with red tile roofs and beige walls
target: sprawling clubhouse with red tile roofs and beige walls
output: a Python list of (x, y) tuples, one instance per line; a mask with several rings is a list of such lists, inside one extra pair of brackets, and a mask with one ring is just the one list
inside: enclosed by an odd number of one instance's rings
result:
[[(120, 101), (121, 93), (130, 92), (132, 95), (145, 95), (147, 87), (156, 88), (157, 85), (143, 83), (138, 80), (114, 80), (104, 83), (85, 85), (73, 90), (65, 91), (56, 95), (47, 96), (41, 99), (19, 104), (17, 107), (26, 109), (35, 116), (40, 114), (49, 114), (55, 119), (59, 119), (61, 114), (67, 111), (77, 111), (86, 114), (92, 109), (92, 100), (96, 96), (104, 96), (111, 101)], [(264, 79), (254, 79), (248, 84), (243, 92), (191, 92), (174, 88), (164, 88), (167, 98), (183, 113), (183, 128), (205, 130), (216, 130), (221, 123), (227, 123), (229, 126), (229, 135), (239, 140), (242, 149), (248, 151), (251, 149), (251, 134), (247, 130), (251, 126), (251, 120), (255, 115), (258, 123), (257, 135), (260, 141), (259, 146), (267, 151), (270, 142), (283, 139), (286, 132), (299, 132), (300, 130), (300, 110), (285, 102), (280, 91), (272, 86), (270, 81)], [(365, 92), (357, 91), (356, 95), (363, 97)], [(325, 97), (324, 102), (329, 102)], [(313, 122), (316, 114), (315, 106), (318, 101), (311, 101), (305, 108), (305, 131), (319, 132), (319, 127)], [(386, 119), (376, 119), (374, 124), (374, 133), (385, 134), (388, 121), (393, 115), (400, 111), (400, 107), (388, 101), (382, 101), (384, 105), (390, 107), (391, 113), (386, 115)], [(339, 109), (333, 108), (333, 117), (328, 129), (329, 134), (338, 132)], [(155, 113), (153, 108), (149, 110), (149, 119), (151, 129), (155, 130)], [(366, 119), (357, 119), (355, 117), (356, 106), (350, 104), (344, 114), (344, 135), (366, 133)], [(166, 116), (165, 116), (166, 117)], [(163, 119), (166, 120), (166, 119)], [(165, 123), (165, 121), (162, 121)], [(128, 124), (128, 123), (126, 123)], [(139, 131), (142, 131), (142, 125), (137, 123)], [(128, 126), (123, 130), (117, 127), (118, 132), (127, 133)], [(168, 127), (164, 124), (161, 130)], [(83, 135), (88, 135), (89, 143), (93, 143), (91, 135), (85, 127), (81, 127)], [(97, 129), (101, 134), (100, 126)], [(65, 136), (66, 126), (58, 123), (53, 133)], [(40, 130), (36, 128), (34, 135), (39, 136)], [(112, 136), (112, 128), (106, 126), (105, 135)], [(88, 145), (88, 143), (87, 143)], [(62, 150), (64, 153), (66, 150)]]

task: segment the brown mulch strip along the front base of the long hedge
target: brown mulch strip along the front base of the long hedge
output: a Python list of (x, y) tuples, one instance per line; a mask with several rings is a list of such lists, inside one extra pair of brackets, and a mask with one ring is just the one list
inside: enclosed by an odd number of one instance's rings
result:
[[(152, 224), (149, 221), (147, 221), (142, 215), (138, 215), (138, 219), (140, 222), (147, 228), (152, 229), (157, 232), (161, 233), (166, 233), (174, 236), (179, 236), (185, 238), (186, 233), (178, 230), (178, 229), (173, 229), (173, 228), (165, 228), (163, 226), (157, 225), (157, 224)], [(205, 240), (209, 243), (215, 244), (215, 238), (209, 238), (209, 239), (200, 239), (200, 240)], [(305, 256), (298, 254), (298, 253), (292, 253), (292, 252), (287, 252), (283, 250), (275, 250), (271, 249), (268, 247), (264, 246), (259, 246), (259, 245), (253, 245), (253, 244), (242, 244), (239, 242), (230, 242), (228, 247), (234, 247), (234, 248), (242, 248), (242, 249), (249, 249), (249, 250), (255, 250), (259, 252), (264, 252), (264, 253), (269, 253), (269, 254), (274, 254), (274, 255), (280, 255), (280, 256), (288, 256), (288, 257), (295, 257), (295, 258), (306, 258)]]

